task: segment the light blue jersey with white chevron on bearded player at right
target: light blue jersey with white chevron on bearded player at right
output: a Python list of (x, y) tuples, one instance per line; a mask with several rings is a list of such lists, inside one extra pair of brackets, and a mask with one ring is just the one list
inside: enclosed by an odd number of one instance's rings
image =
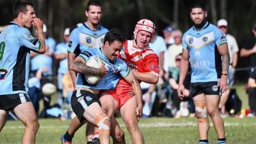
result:
[(218, 81), (221, 78), (221, 55), (217, 46), (226, 43), (225, 34), (209, 22), (200, 31), (193, 26), (184, 33), (182, 46), (189, 49), (191, 83)]

